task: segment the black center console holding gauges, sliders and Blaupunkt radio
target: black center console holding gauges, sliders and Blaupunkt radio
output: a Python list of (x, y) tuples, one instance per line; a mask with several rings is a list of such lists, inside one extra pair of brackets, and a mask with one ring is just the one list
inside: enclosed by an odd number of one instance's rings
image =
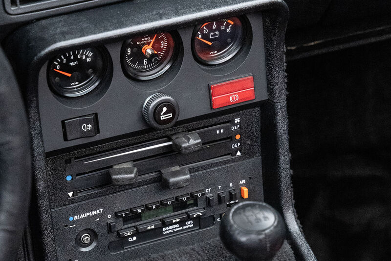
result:
[[(248, 201), (281, 212), (273, 213), (303, 257), (285, 133), (286, 6), (178, 1), (153, 18), (148, 9), (145, 23), (135, 12), (144, 3), (113, 5), (132, 21), (100, 7), (67, 16), (69, 28), (96, 31), (54, 33), (48, 24), (58, 17), (6, 43), (45, 32), (16, 65), (34, 68), (24, 86), (32, 94), (37, 260), (137, 260), (193, 246), (218, 238), (225, 213)], [(82, 22), (96, 12), (111, 14), (112, 28)]]

